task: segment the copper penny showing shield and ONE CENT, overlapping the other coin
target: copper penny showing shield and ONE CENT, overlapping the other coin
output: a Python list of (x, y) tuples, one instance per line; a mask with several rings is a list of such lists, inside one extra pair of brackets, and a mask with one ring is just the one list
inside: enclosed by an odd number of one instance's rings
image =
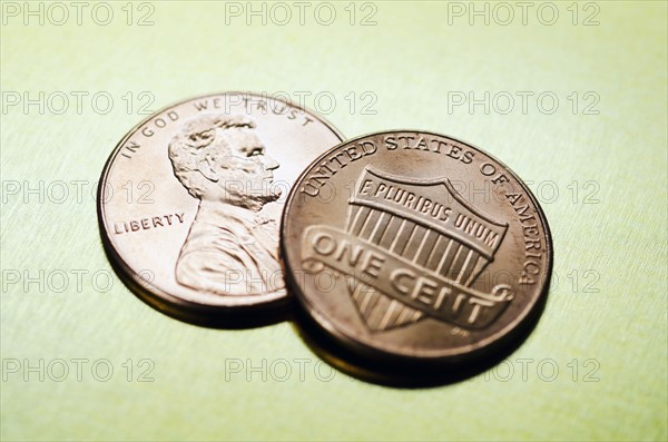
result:
[(420, 131), (323, 154), (295, 183), (281, 238), (306, 315), (376, 360), (484, 355), (537, 317), (552, 266), (527, 186), (479, 148)]

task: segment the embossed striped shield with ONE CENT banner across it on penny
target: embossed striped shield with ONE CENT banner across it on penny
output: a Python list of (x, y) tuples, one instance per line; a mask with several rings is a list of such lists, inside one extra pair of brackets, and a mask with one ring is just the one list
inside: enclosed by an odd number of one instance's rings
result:
[[(310, 265), (314, 269), (324, 265), (346, 275), (347, 292), (370, 331), (426, 317), (483, 328), (512, 301), (507, 285), (492, 293), (472, 287), (494, 259), (508, 224), (466, 202), (448, 178), (405, 178), (366, 167), (348, 204), (345, 232), (326, 226), (305, 232), (303, 249), (316, 253), (304, 257), (318, 263)], [(332, 253), (317, 256), (325, 248)]]

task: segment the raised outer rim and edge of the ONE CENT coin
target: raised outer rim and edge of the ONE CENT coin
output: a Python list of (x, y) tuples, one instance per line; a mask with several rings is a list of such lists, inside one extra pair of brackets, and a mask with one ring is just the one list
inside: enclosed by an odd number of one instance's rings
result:
[[(540, 222), (542, 232), (544, 233), (543, 252), (546, 255), (546, 265), (544, 269), (540, 272), (540, 278), (537, 283), (537, 286), (540, 286), (540, 289), (536, 291), (537, 294), (528, 302), (527, 306), (521, 311), (521, 313), (514, 318), (512, 318), (512, 321), (508, 322), (508, 324), (505, 324), (501, 330), (499, 330), (491, 336), (475, 341), (469, 345), (458, 346), (454, 348), (439, 350), (425, 350), (413, 347), (406, 351), (397, 351), (396, 346), (392, 347), (387, 345), (377, 345), (377, 343), (373, 343), (370, 338), (367, 338), (367, 336), (361, 336), (357, 333), (351, 333), (348, 330), (337, 326), (331, 320), (330, 314), (320, 308), (318, 305), (305, 294), (305, 287), (301, 286), (299, 282), (297, 282), (294, 276), (295, 269), (299, 268), (295, 266), (295, 263), (293, 263), (294, 256), (291, 256), (292, 254), (289, 252), (289, 240), (293, 238), (289, 237), (291, 233), (288, 230), (291, 228), (291, 213), (293, 212), (293, 207), (296, 204), (298, 204), (297, 195), (299, 191), (301, 184), (304, 181), (304, 179), (316, 167), (318, 167), (321, 161), (323, 161), (325, 158), (333, 155), (334, 153), (336, 153), (345, 146), (352, 146), (360, 140), (364, 140), (371, 137), (381, 137), (392, 134), (404, 132), (449, 139), (462, 146), (471, 148), (477, 153), (480, 153), (485, 158), (489, 158), (497, 166), (499, 166), (499, 168), (502, 168), (504, 174), (509, 175), (509, 177), (517, 180), (517, 183), (520, 185), (522, 191), (527, 195), (527, 197), (530, 199), (531, 204), (536, 208), (538, 220)], [(306, 226), (303, 226), (303, 228), (305, 229)], [(495, 357), (495, 355), (502, 354), (507, 348), (515, 348), (514, 344), (520, 342), (522, 337), (528, 336), (528, 332), (536, 325), (537, 320), (542, 313), (542, 308), (544, 307), (548, 297), (549, 284), (553, 267), (552, 236), (549, 224), (547, 222), (547, 217), (543, 213), (542, 207), (539, 205), (538, 199), (529, 189), (529, 187), (522, 181), (522, 179), (504, 163), (500, 161), (494, 156), (488, 154), (484, 149), (481, 149), (471, 143), (463, 141), (452, 136), (419, 129), (393, 129), (369, 132), (342, 141), (337, 146), (334, 146), (326, 153), (322, 154), (318, 158), (313, 160), (313, 163), (306, 169), (304, 169), (304, 171), (295, 181), (295, 185), (292, 187), (287, 200), (285, 203), (283, 218), (281, 223), (281, 252), (286, 269), (286, 281), (288, 283), (288, 287), (298, 301), (298, 305), (301, 306), (302, 312), (306, 314), (307, 322), (311, 323), (307, 324), (307, 326), (315, 325), (317, 328), (316, 333), (324, 333), (324, 335), (320, 336), (318, 340), (323, 337), (328, 338), (332, 342), (332, 344), (334, 344), (335, 346), (340, 346), (343, 350), (344, 357), (350, 356), (350, 354), (352, 353), (353, 356), (360, 356), (362, 358), (362, 362), (364, 363), (369, 361), (372, 364), (375, 364), (377, 362), (380, 362), (381, 364), (384, 362), (392, 362), (397, 363), (397, 366), (400, 367), (404, 366), (405, 363), (409, 363), (410, 365), (415, 362), (424, 363), (428, 365), (479, 363), (482, 356), (484, 356), (485, 354)], [(298, 255), (301, 257), (301, 252), (298, 254), (295, 252), (295, 255)], [(377, 369), (377, 365), (372, 366)]]

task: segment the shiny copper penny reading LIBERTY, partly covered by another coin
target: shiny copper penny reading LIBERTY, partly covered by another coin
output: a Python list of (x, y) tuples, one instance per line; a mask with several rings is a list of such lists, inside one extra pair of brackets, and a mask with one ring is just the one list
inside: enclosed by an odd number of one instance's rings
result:
[(116, 147), (98, 191), (100, 232), (124, 281), (180, 316), (286, 299), (278, 223), (298, 174), (341, 134), (315, 114), (225, 92), (170, 106)]

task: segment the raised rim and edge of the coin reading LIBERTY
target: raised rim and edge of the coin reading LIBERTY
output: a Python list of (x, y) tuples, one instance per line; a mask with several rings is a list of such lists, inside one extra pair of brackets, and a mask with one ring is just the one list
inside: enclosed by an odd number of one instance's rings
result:
[[(283, 308), (287, 305), (287, 303), (289, 302), (287, 285), (285, 288), (276, 289), (272, 293), (220, 296), (219, 302), (215, 304), (207, 304), (203, 302), (196, 302), (193, 299), (186, 299), (176, 296), (166, 289), (163, 289), (157, 284), (154, 284), (151, 281), (147, 281), (145, 276), (136, 272), (132, 268), (132, 266), (129, 265), (128, 262), (124, 258), (121, 253), (119, 253), (117, 247), (115, 247), (114, 242), (110, 237), (110, 226), (108, 225), (108, 214), (105, 204), (105, 190), (106, 184), (108, 183), (109, 175), (111, 173), (111, 168), (115, 164), (115, 160), (121, 154), (124, 146), (130, 138), (132, 138), (135, 134), (137, 134), (141, 128), (146, 127), (151, 120), (166, 115), (171, 109), (178, 108), (179, 106), (184, 106), (198, 100), (230, 96), (252, 97), (252, 99), (265, 99), (267, 100), (267, 102), (272, 101), (283, 104), (297, 110), (298, 112), (304, 112), (310, 118), (313, 118), (314, 121), (318, 121), (321, 125), (327, 128), (334, 137), (338, 138), (338, 141), (345, 139), (343, 134), (332, 122), (330, 122), (326, 118), (315, 112), (314, 110), (311, 110), (305, 106), (299, 106), (289, 100), (284, 100), (282, 98), (269, 96), (268, 94), (257, 94), (253, 91), (224, 91), (194, 96), (187, 99), (174, 101), (167, 106), (161, 107), (159, 110), (156, 110), (151, 115), (141, 119), (130, 130), (128, 130), (127, 134), (116, 144), (109, 157), (105, 161), (105, 166), (102, 168), (97, 189), (96, 205), (100, 237), (102, 240), (104, 249), (107, 256), (109, 257), (109, 262), (112, 268), (116, 271), (119, 278), (141, 301), (146, 302), (154, 308), (157, 308), (161, 313), (165, 313), (169, 316), (176, 317), (181, 321), (202, 325), (234, 325), (235, 320), (242, 321), (243, 325), (246, 324), (248, 321), (250, 325), (254, 325), (255, 320), (257, 320), (259, 323), (264, 323), (265, 321), (275, 321), (273, 316), (267, 316), (265, 318), (265, 316), (263, 315), (274, 314), (277, 308)], [(222, 110), (219, 114), (225, 112)], [(277, 222), (279, 220), (281, 219), (278, 217)], [(277, 242), (279, 242), (279, 238), (277, 238)], [(283, 268), (281, 257), (278, 259)], [(249, 317), (248, 314), (250, 313), (253, 314), (253, 316)]]

